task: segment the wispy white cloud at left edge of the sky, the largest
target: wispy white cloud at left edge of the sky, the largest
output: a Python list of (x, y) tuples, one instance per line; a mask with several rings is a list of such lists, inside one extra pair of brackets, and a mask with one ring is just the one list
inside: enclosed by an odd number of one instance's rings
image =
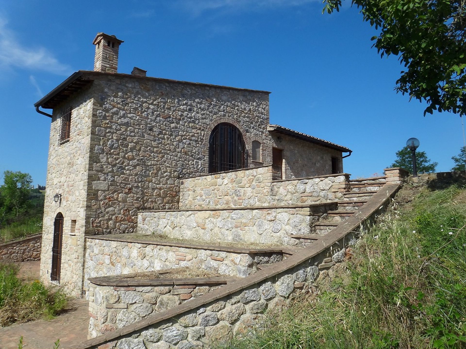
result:
[(69, 74), (70, 67), (60, 63), (46, 48), (24, 47), (20, 42), (0, 14), (0, 71), (16, 67), (59, 75)]

